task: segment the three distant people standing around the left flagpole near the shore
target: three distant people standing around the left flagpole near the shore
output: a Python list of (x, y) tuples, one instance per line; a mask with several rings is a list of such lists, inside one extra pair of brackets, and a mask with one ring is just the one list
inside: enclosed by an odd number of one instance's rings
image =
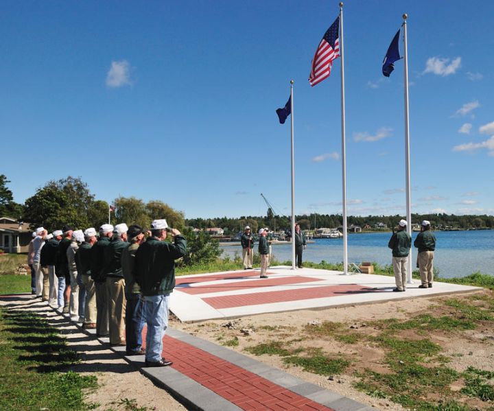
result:
[[(272, 235), (269, 228), (259, 229), (259, 255), (261, 256), (261, 279), (267, 279), (266, 270), (270, 265), (270, 260), (272, 257)], [(305, 248), (307, 248), (307, 240), (305, 239), (305, 234), (300, 228), (299, 224), (295, 224), (295, 257), (296, 265), (298, 268), (302, 268), (302, 253)], [(250, 231), (250, 226), (244, 228), (244, 233), (240, 238), (240, 244), (242, 245), (242, 262), (244, 263), (244, 270), (249, 270), (252, 268), (252, 263), (254, 261), (254, 236)]]

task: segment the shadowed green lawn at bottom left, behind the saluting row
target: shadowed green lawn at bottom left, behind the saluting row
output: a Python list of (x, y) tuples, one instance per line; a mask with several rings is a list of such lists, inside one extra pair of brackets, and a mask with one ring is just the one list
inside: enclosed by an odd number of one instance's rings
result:
[(0, 410), (85, 410), (93, 376), (67, 368), (79, 362), (47, 321), (30, 312), (0, 309)]

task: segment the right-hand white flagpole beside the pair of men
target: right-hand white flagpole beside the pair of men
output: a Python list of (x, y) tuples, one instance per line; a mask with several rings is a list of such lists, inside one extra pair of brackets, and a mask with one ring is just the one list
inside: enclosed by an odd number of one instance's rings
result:
[[(403, 82), (405, 83), (405, 189), (406, 189), (406, 220), (407, 232), (412, 235), (412, 208), (410, 206), (410, 128), (408, 119), (408, 47), (406, 38), (406, 19), (408, 15), (403, 14)], [(407, 283), (412, 283), (412, 248), (408, 255)]]

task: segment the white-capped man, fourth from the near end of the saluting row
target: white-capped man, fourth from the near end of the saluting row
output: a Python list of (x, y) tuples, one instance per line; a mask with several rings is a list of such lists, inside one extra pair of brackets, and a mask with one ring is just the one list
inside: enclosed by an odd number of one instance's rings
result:
[(108, 298), (106, 298), (106, 275), (104, 268), (104, 249), (110, 245), (113, 225), (99, 227), (99, 239), (91, 248), (91, 278), (96, 288), (96, 335), (108, 336)]

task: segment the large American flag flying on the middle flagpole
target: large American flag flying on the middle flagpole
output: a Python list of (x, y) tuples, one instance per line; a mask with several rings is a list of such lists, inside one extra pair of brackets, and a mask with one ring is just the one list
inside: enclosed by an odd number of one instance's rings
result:
[(336, 18), (331, 27), (322, 36), (318, 45), (314, 59), (312, 60), (312, 69), (309, 75), (309, 83), (315, 86), (322, 82), (331, 74), (333, 60), (340, 57), (340, 16)]

